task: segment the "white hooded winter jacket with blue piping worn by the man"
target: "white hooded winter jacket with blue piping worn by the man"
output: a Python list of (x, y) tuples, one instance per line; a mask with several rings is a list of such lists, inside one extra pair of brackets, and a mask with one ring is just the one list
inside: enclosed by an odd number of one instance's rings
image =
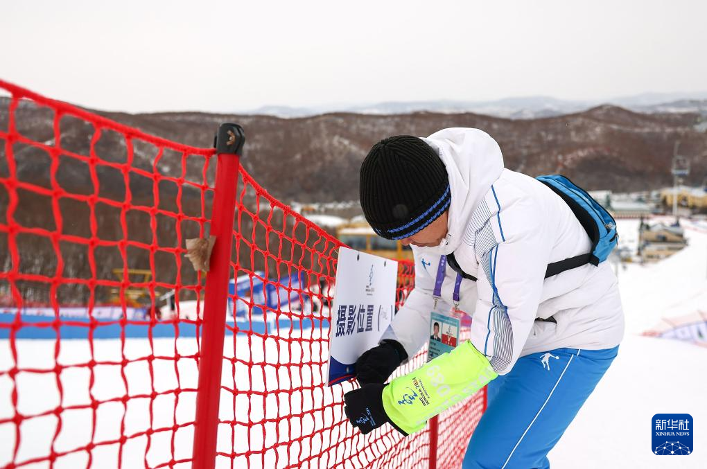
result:
[[(549, 263), (591, 249), (567, 204), (536, 179), (504, 169), (501, 148), (484, 131), (443, 129), (423, 141), (449, 176), (448, 235), (438, 247), (413, 247), (414, 290), (382, 338), (398, 340), (409, 356), (424, 345), (438, 262), (453, 252), (478, 279), (462, 280), (459, 308), (472, 316), (472, 344), (498, 374), (522, 355), (618, 345), (624, 316), (607, 262), (544, 278)], [(447, 309), (456, 275), (446, 268), (441, 300)]]

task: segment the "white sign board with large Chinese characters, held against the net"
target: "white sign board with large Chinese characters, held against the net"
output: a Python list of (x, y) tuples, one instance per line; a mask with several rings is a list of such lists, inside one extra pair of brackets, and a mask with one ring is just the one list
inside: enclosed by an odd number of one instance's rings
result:
[(341, 247), (329, 326), (328, 384), (353, 378), (358, 357), (378, 340), (395, 314), (397, 261)]

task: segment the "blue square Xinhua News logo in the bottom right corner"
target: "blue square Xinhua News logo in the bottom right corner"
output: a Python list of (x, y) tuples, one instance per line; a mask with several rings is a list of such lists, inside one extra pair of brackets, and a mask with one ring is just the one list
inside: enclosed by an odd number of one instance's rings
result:
[(653, 429), (653, 454), (687, 456), (692, 453), (694, 421), (689, 414), (655, 414), (650, 422)]

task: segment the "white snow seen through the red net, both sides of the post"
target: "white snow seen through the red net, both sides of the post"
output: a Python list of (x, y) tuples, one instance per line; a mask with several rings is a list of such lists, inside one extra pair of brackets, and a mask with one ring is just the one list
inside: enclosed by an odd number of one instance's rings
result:
[[(317, 388), (325, 379), (322, 368), (308, 364), (324, 362), (328, 357), (322, 347), (324, 342), (317, 340), (322, 333), (327, 334), (328, 331), (309, 331), (306, 338), (310, 340), (292, 341), (287, 345), (276, 344), (273, 338), (257, 336), (226, 338), (223, 356), (227, 359), (237, 357), (238, 361), (232, 365), (224, 360), (222, 386), (255, 391), (250, 395), (241, 392), (237, 396), (228, 391), (221, 393), (219, 418), (238, 424), (234, 427), (219, 426), (217, 451), (235, 451), (241, 455), (249, 449), (254, 452), (250, 456), (236, 458), (235, 467), (293, 467), (298, 463), (298, 458), (310, 456), (313, 457), (312, 465), (316, 467), (315, 456), (323, 445), (354, 434), (352, 427), (341, 423), (344, 422), (341, 408), (330, 406), (337, 393), (341, 393), (342, 389), (350, 391), (352, 385), (346, 383), (322, 391)], [(287, 335), (295, 336), (294, 333)], [(196, 393), (180, 392), (177, 400), (170, 391), (197, 387), (197, 363), (193, 358), (188, 358), (197, 351), (196, 341), (194, 338), (176, 341), (173, 338), (158, 338), (153, 339), (152, 344), (146, 339), (133, 338), (125, 340), (122, 348), (120, 340), (105, 339), (95, 340), (91, 350), (87, 340), (62, 340), (55, 360), (54, 340), (17, 340), (18, 368), (33, 370), (20, 372), (16, 376), (18, 413), (38, 415), (51, 412), (58, 405), (73, 407), (61, 412), (61, 428), (53, 449), (57, 453), (73, 451), (93, 441), (98, 444), (92, 451), (93, 468), (117, 467), (119, 444), (101, 445), (100, 442), (117, 441), (121, 436), (121, 425), (124, 425), (122, 434), (129, 437), (122, 451), (122, 468), (144, 467), (144, 459), (150, 467), (155, 467), (171, 459), (191, 458), (193, 425), (175, 431), (173, 426), (194, 422)], [(175, 353), (182, 355), (176, 362), (170, 360)], [(146, 360), (151, 356), (155, 359)], [(88, 367), (82, 366), (91, 357), (103, 363), (93, 367), (93, 376)], [(129, 361), (125, 367), (119, 365), (123, 358)], [(249, 369), (245, 362), (254, 365)], [(57, 374), (53, 372), (55, 363), (64, 367), (58, 375), (61, 392), (57, 386)], [(12, 364), (8, 340), (0, 340), (0, 370), (5, 371)], [(280, 366), (276, 367), (276, 364)], [(93, 385), (90, 384), (92, 379)], [(12, 391), (11, 380), (3, 376), (0, 379), (0, 420), (13, 417)], [(153, 391), (158, 396), (150, 405), (148, 397)], [(138, 397), (129, 398), (125, 406), (120, 401), (110, 401), (126, 394)], [(92, 400), (101, 402), (96, 409), (95, 422), (90, 408)], [(286, 415), (293, 416), (282, 419)], [(52, 449), (57, 421), (53, 414), (25, 420), (21, 425), (21, 444), (16, 462), (47, 456)], [(249, 422), (255, 425), (249, 428)], [(304, 443), (309, 445), (296, 442), (304, 435), (313, 434), (315, 426), (329, 430), (315, 437), (305, 437)], [(149, 446), (146, 435), (132, 437), (148, 429), (161, 429), (151, 435)], [(15, 441), (15, 426), (0, 425), (0, 467), (12, 460)], [(294, 442), (288, 445), (291, 441)], [(273, 449), (274, 446), (276, 449)], [(259, 451), (266, 448), (269, 451), (262, 456)], [(231, 467), (230, 459), (221, 457), (216, 461), (217, 468)], [(81, 450), (57, 458), (53, 467), (84, 468), (87, 462), (88, 452)], [(25, 467), (37, 469), (48, 468), (49, 465), (38, 463)], [(189, 464), (177, 464), (175, 467), (187, 469)]]

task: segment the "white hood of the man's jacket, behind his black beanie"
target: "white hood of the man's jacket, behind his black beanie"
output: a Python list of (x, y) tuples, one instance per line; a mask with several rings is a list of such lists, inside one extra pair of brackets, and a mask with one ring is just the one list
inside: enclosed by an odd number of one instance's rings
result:
[(447, 237), (438, 247), (423, 248), (436, 254), (450, 254), (462, 242), (469, 218), (503, 172), (501, 148), (479, 129), (454, 127), (422, 138), (444, 162), (449, 176), (452, 201)]

